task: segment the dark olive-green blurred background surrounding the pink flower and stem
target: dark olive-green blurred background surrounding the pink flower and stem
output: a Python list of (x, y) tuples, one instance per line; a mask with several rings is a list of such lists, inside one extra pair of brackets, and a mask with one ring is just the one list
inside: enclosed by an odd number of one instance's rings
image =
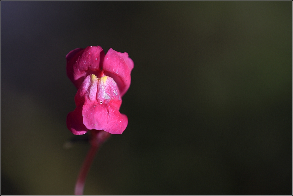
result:
[(71, 195), (67, 53), (127, 52), (86, 195), (292, 195), (292, 1), (1, 1), (1, 195)]

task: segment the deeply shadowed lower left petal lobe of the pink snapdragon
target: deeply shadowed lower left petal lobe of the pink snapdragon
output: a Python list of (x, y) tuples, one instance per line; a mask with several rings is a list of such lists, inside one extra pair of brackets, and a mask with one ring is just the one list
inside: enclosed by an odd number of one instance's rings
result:
[(86, 128), (86, 126), (84, 126), (82, 122), (81, 110), (82, 107), (77, 107), (74, 111), (69, 112), (69, 114), (67, 115), (67, 128), (74, 135), (83, 135), (88, 131), (88, 129)]

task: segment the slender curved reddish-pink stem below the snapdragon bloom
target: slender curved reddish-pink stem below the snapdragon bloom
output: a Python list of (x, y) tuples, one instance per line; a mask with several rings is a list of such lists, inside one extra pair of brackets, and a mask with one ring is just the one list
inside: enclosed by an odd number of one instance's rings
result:
[(88, 174), (88, 171), (91, 167), (91, 163), (93, 162), (93, 159), (95, 158), (96, 152), (98, 151), (99, 147), (100, 145), (91, 145), (91, 148), (88, 151), (88, 154), (86, 155), (86, 159), (84, 160), (84, 163), (81, 167), (79, 176), (75, 184), (75, 195), (83, 195), (86, 175)]

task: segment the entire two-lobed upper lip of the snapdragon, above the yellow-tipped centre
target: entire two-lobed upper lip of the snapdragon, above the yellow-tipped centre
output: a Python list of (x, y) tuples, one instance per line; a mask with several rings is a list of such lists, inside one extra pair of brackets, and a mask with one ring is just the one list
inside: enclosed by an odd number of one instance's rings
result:
[(105, 55), (100, 46), (88, 46), (85, 49), (76, 48), (66, 55), (67, 76), (78, 89), (84, 79), (94, 74), (112, 77), (123, 96), (129, 89), (131, 70), (134, 63), (127, 53), (119, 53), (112, 48)]

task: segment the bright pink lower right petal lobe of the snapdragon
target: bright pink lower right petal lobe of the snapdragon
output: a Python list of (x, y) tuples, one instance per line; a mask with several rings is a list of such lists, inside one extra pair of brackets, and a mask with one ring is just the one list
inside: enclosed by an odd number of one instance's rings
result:
[(110, 134), (122, 134), (128, 124), (125, 114), (121, 114), (115, 107), (109, 106), (109, 120), (107, 126), (103, 129)]

